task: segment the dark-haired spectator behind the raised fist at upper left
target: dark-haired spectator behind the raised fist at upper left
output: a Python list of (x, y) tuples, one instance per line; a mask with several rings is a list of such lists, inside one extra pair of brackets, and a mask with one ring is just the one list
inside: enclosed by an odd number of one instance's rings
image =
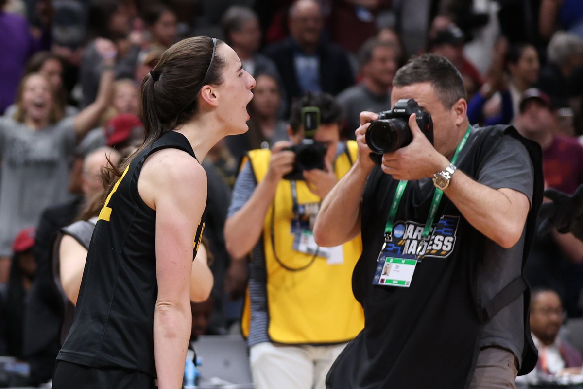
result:
[[(129, 15), (125, 5), (117, 0), (93, 0), (89, 9), (89, 36), (94, 39), (83, 52), (79, 83), (83, 92), (81, 107), (91, 104), (97, 96), (99, 74), (104, 58), (99, 54), (100, 38), (113, 41), (118, 51), (113, 64), (116, 78), (134, 78), (141, 48), (139, 34), (129, 34)], [(129, 42), (128, 42), (129, 40)]]

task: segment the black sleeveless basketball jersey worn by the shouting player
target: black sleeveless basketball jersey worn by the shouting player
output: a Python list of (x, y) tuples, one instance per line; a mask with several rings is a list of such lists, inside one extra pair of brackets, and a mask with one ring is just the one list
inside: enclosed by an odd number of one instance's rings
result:
[[(156, 376), (156, 211), (140, 197), (138, 178), (147, 157), (166, 148), (196, 158), (184, 135), (168, 131), (139, 153), (115, 183), (95, 226), (73, 325), (57, 360)], [(204, 220), (205, 214), (196, 230), (194, 255)]]

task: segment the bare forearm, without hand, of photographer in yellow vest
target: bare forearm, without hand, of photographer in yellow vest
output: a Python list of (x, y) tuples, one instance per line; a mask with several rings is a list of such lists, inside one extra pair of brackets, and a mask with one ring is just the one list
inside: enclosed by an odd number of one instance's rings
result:
[(244, 258), (257, 244), (278, 182), (269, 178), (261, 181), (245, 205), (225, 222), (224, 240), (234, 259)]

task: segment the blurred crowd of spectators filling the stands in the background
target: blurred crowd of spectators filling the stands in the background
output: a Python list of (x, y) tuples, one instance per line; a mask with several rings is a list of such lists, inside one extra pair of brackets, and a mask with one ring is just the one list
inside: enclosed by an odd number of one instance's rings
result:
[[(547, 187), (583, 183), (581, 0), (0, 0), (0, 9), (0, 355), (29, 362), (33, 384), (51, 378), (76, 299), (55, 282), (66, 285), (55, 238), (82, 243), (61, 229), (99, 213), (102, 167), (142, 141), (142, 79), (182, 38), (224, 40), (257, 82), (249, 131), (203, 163), (215, 287), (193, 304), (195, 336), (238, 333), (248, 268), (224, 241), (231, 190), (249, 150), (288, 139), (290, 107), (306, 93), (335, 97), (340, 138), (354, 139), (361, 111), (391, 108), (399, 66), (433, 52), (461, 73), (472, 124), (512, 124), (538, 142)], [(583, 316), (581, 241), (538, 236), (526, 275), (556, 293), (561, 317)]]

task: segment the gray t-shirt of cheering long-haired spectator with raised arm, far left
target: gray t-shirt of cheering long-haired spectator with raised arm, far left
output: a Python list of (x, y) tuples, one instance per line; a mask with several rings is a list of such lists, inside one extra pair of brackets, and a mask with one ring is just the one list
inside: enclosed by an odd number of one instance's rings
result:
[(73, 118), (34, 130), (0, 118), (0, 255), (12, 255), (12, 241), (36, 226), (48, 206), (66, 201), (76, 135)]

